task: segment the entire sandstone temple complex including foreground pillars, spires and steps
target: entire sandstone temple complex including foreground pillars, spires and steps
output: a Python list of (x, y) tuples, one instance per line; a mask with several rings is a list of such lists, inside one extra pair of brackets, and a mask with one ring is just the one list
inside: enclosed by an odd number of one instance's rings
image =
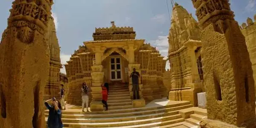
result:
[[(173, 1), (173, 0), (172, 0)], [(64, 84), (64, 128), (256, 128), (256, 15), (234, 20), (229, 0), (175, 3), (168, 58), (133, 27), (95, 28), (62, 64), (53, 0), (14, 0), (0, 43), (0, 128), (46, 128), (44, 101)], [(167, 28), (168, 29), (168, 28)], [(170, 69), (166, 71), (166, 61)], [(140, 73), (133, 99), (130, 73)], [(81, 111), (81, 84), (90, 111)], [(110, 83), (109, 111), (101, 84)]]

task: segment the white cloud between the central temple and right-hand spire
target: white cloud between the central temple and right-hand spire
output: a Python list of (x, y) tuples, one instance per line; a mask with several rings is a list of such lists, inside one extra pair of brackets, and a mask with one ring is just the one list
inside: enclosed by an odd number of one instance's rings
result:
[[(168, 43), (168, 35), (166, 36), (158, 36), (158, 39), (155, 41), (149, 41), (151, 46), (154, 46), (159, 50), (160, 54), (164, 56), (164, 58), (167, 58), (168, 55), (168, 48), (169, 48), (169, 43)], [(166, 70), (170, 69), (170, 64), (169, 61), (166, 62)]]

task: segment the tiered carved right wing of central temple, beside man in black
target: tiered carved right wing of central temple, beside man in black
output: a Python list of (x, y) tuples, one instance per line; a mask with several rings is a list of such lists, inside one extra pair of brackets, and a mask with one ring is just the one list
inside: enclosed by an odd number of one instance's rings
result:
[(166, 97), (167, 89), (163, 85), (162, 79), (166, 60), (163, 59), (159, 51), (150, 44), (143, 44), (138, 51), (134, 52), (134, 60), (140, 64), (142, 95), (146, 102)]

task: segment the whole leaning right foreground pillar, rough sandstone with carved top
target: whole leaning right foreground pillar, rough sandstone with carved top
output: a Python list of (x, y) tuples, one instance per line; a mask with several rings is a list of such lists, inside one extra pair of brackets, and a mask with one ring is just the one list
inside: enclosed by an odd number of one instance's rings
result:
[(256, 128), (252, 64), (229, 0), (192, 2), (202, 29), (201, 53), (207, 86), (208, 119), (200, 123), (201, 127), (230, 128), (231, 124)]

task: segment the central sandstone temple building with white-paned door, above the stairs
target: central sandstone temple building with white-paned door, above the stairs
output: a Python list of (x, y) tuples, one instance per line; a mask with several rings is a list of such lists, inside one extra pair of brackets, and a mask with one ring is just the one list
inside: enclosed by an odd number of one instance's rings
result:
[[(166, 97), (163, 85), (166, 60), (155, 47), (135, 37), (133, 27), (117, 27), (114, 21), (109, 28), (95, 28), (93, 41), (85, 41), (65, 64), (70, 87), (68, 102), (81, 103), (83, 82), (92, 88), (92, 103), (101, 100), (98, 95), (102, 82), (129, 85), (133, 68), (141, 74), (140, 97), (147, 102)], [(131, 91), (131, 86), (127, 89)]]

